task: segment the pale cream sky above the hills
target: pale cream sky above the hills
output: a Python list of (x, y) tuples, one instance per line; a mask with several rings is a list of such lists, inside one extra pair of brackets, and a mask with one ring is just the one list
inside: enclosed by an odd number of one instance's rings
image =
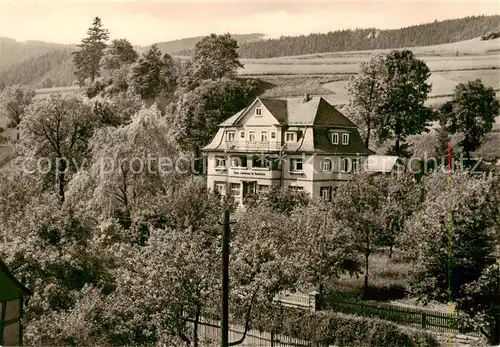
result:
[(99, 16), (112, 39), (148, 45), (212, 32), (279, 37), (357, 27), (394, 29), (481, 14), (500, 14), (500, 1), (0, 0), (0, 36), (74, 44)]

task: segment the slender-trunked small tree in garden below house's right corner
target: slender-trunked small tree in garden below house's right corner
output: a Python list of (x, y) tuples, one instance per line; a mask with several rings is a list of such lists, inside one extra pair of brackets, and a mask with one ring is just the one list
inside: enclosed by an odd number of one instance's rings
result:
[(334, 216), (343, 228), (351, 231), (356, 250), (364, 257), (365, 282), (363, 297), (368, 295), (370, 255), (384, 227), (382, 215), (387, 187), (380, 176), (357, 173), (337, 193)]

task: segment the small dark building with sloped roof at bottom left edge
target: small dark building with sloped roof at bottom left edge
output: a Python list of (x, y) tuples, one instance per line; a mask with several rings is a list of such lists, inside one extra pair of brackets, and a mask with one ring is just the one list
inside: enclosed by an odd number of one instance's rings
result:
[(21, 346), (23, 298), (31, 295), (0, 258), (0, 346)]

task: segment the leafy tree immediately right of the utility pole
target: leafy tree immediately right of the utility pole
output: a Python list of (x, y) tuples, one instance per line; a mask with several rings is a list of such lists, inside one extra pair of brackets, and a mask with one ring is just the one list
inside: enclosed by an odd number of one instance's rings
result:
[[(296, 290), (299, 264), (294, 258), (299, 230), (287, 216), (262, 206), (240, 214), (232, 227), (230, 249), (230, 313), (250, 326), (271, 310), (276, 294)], [(300, 259), (302, 260), (302, 259)]]

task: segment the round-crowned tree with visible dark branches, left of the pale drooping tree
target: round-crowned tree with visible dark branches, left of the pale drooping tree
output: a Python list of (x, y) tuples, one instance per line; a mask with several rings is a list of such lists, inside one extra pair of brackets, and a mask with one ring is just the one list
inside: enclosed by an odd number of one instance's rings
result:
[(37, 100), (21, 122), (21, 149), (26, 158), (48, 161), (46, 183), (55, 184), (59, 199), (72, 173), (88, 158), (96, 126), (90, 105), (76, 95), (52, 94)]

